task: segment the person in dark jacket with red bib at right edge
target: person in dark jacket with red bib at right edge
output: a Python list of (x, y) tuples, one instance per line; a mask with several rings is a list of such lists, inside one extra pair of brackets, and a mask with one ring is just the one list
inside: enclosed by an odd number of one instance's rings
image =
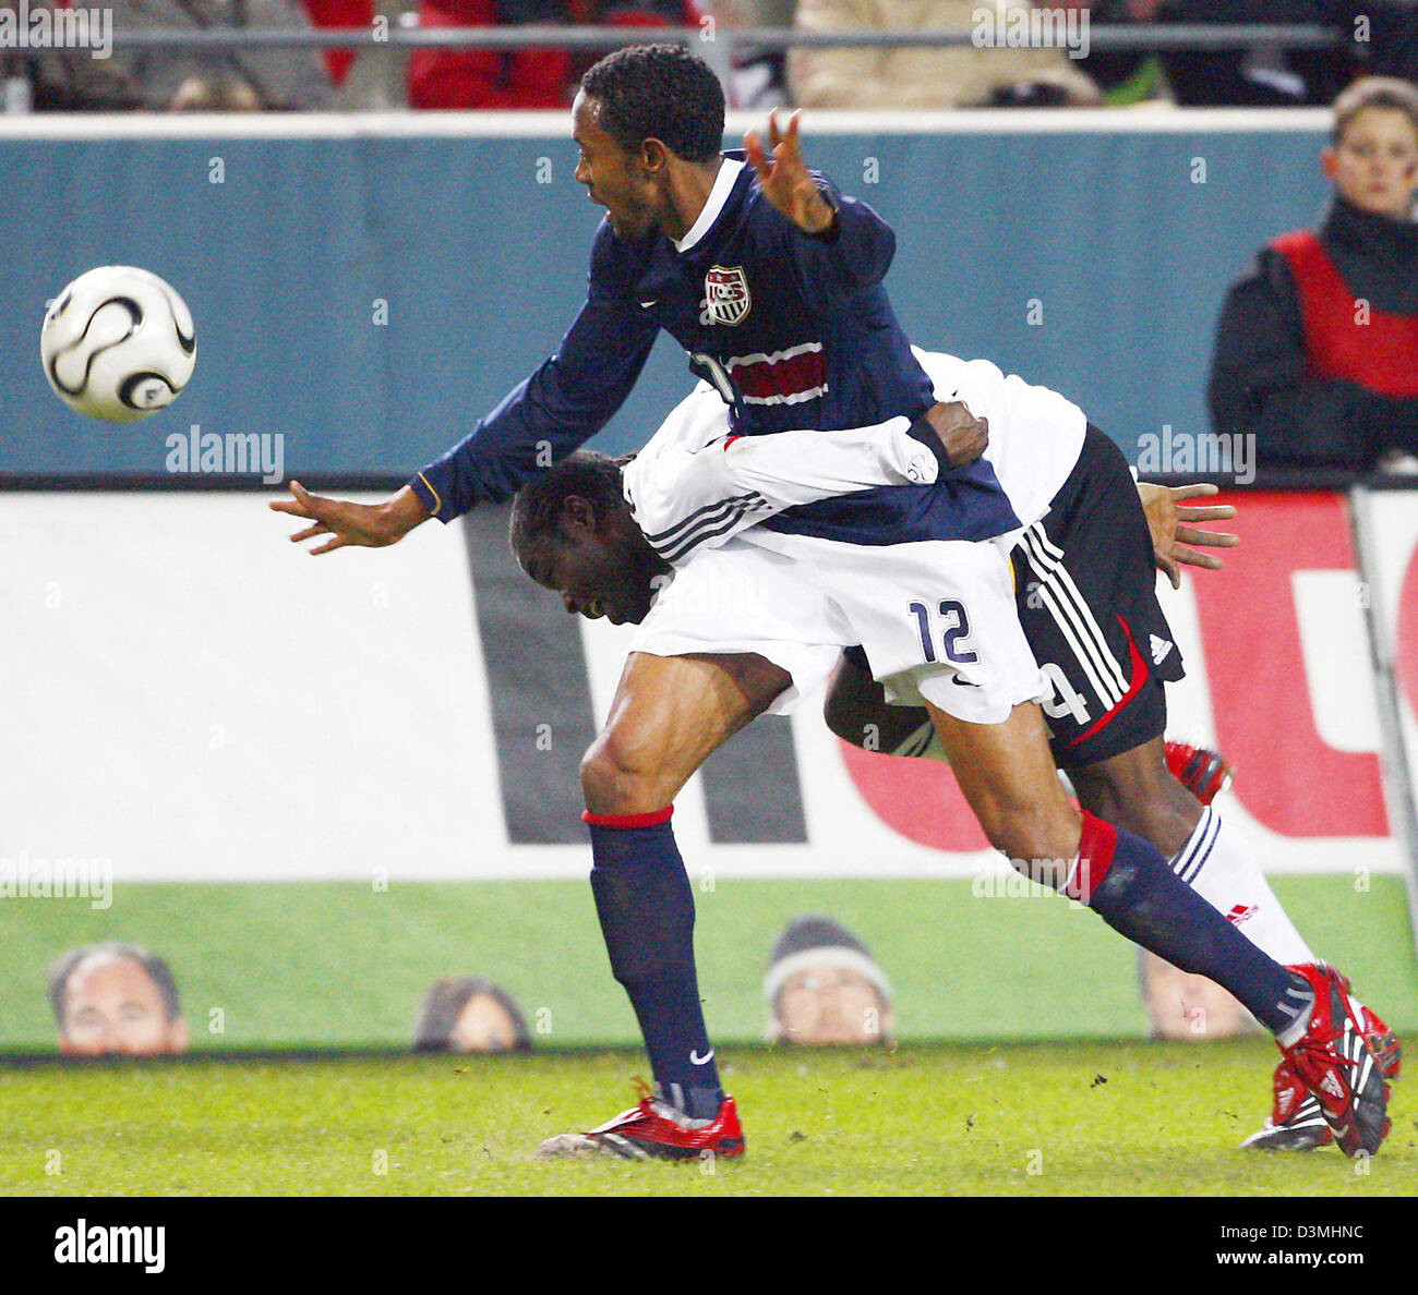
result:
[(1261, 466), (1418, 468), (1418, 88), (1366, 78), (1334, 102), (1319, 231), (1263, 248), (1221, 309), (1211, 417)]

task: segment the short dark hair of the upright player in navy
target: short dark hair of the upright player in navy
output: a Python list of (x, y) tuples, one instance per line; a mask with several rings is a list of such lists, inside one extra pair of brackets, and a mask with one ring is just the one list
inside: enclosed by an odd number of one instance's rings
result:
[(601, 129), (625, 149), (661, 140), (685, 162), (709, 162), (723, 145), (723, 86), (683, 45), (627, 45), (607, 54), (581, 91), (601, 103)]

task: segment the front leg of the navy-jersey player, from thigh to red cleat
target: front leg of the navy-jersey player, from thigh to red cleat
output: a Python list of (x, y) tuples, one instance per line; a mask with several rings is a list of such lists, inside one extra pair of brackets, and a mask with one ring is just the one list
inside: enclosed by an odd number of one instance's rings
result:
[(649, 1054), (655, 1092), (543, 1153), (627, 1159), (743, 1153), (733, 1099), (720, 1087), (695, 971), (693, 888), (671, 805), (723, 741), (791, 684), (760, 656), (652, 656), (625, 663), (605, 728), (581, 765), (591, 832), (591, 891), (611, 973)]

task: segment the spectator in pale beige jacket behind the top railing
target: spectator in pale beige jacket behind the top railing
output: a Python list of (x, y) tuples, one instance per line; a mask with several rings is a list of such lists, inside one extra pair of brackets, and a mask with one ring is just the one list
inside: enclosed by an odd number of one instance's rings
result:
[[(798, 0), (800, 31), (970, 28), (1004, 21), (1028, 0)], [(971, 108), (988, 103), (1096, 105), (1098, 86), (1062, 47), (839, 45), (788, 54), (788, 88), (804, 108)]]

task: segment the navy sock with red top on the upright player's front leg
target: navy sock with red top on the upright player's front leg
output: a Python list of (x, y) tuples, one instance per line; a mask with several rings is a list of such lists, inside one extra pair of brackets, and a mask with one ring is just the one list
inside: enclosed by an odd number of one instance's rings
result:
[(695, 975), (695, 894), (669, 809), (593, 815), (591, 891), (611, 972), (630, 995), (665, 1101), (692, 1119), (723, 1102)]

